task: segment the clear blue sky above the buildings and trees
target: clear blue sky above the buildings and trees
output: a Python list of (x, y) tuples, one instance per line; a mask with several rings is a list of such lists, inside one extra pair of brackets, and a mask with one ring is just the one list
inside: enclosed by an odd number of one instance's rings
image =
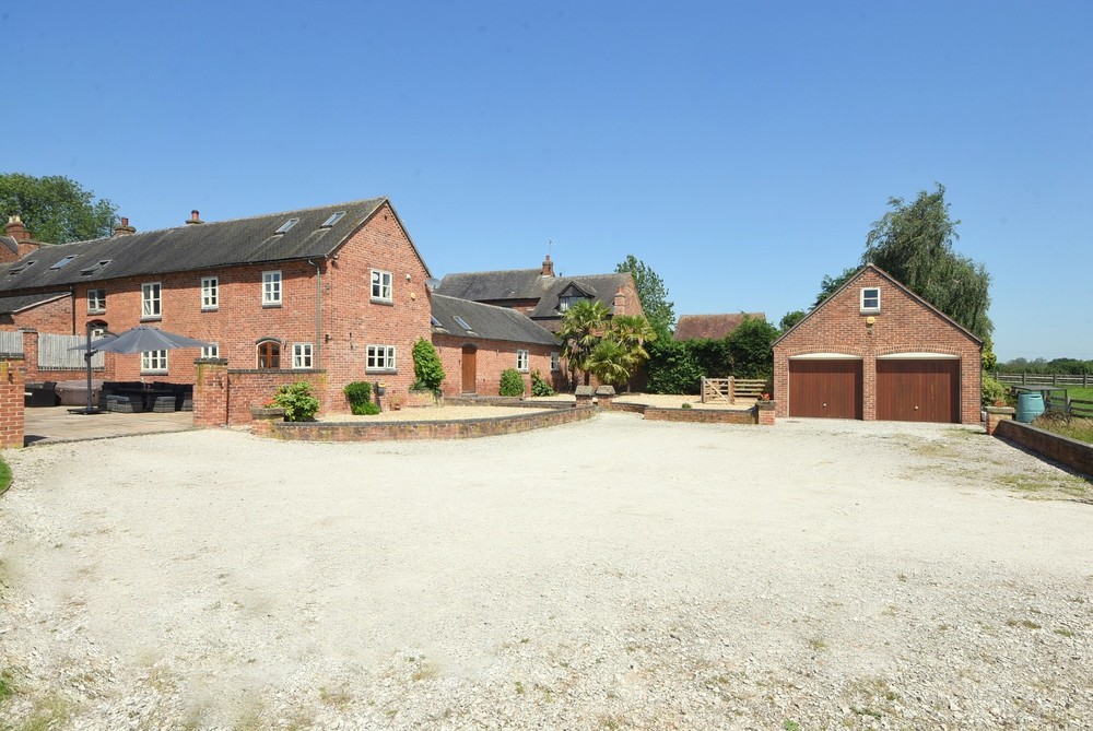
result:
[(1093, 358), (1093, 3), (21, 2), (0, 172), (139, 229), (388, 196), (434, 275), (807, 308), (936, 181), (996, 351)]

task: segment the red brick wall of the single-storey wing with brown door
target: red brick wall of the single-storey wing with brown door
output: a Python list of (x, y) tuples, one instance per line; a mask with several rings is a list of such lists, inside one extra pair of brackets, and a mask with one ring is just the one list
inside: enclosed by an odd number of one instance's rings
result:
[[(478, 347), (475, 354), (475, 392), (479, 396), (497, 396), (501, 392), (501, 373), (516, 367), (516, 351), (528, 351), (528, 373), (524, 374), (524, 392), (531, 396), (531, 372), (548, 382), (553, 375), (550, 369), (551, 352), (561, 352), (561, 345), (538, 345), (532, 343), (512, 343), (497, 340), (475, 340), (457, 338), (455, 335), (433, 335), (433, 345), (440, 356), (445, 379), (442, 390), (445, 396), (459, 396), (462, 392), (463, 345)], [(390, 391), (388, 391), (390, 393)]]

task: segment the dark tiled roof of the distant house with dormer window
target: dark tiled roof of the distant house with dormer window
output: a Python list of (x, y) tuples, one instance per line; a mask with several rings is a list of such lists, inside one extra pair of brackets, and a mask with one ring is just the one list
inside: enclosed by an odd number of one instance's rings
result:
[(436, 287), (438, 294), (474, 302), (537, 299), (533, 318), (560, 317), (557, 300), (575, 285), (584, 294), (611, 307), (615, 291), (626, 284), (628, 272), (618, 274), (585, 274), (580, 276), (543, 276), (541, 269), (514, 269), (497, 272), (448, 274)]

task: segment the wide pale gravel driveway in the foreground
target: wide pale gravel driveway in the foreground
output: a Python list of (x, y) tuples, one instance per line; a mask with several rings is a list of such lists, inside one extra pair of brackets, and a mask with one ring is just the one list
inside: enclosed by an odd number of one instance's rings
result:
[(1093, 718), (1093, 493), (959, 427), (606, 413), (4, 457), (2, 729)]

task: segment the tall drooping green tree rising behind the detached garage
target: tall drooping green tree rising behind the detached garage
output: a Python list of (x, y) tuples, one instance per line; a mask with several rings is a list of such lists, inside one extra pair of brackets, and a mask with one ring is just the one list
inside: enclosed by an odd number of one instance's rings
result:
[(889, 205), (892, 210), (866, 237), (861, 263), (877, 264), (980, 340), (989, 340), (990, 275), (982, 263), (953, 251), (960, 221), (949, 215), (944, 186), (922, 190), (909, 203), (890, 198)]

